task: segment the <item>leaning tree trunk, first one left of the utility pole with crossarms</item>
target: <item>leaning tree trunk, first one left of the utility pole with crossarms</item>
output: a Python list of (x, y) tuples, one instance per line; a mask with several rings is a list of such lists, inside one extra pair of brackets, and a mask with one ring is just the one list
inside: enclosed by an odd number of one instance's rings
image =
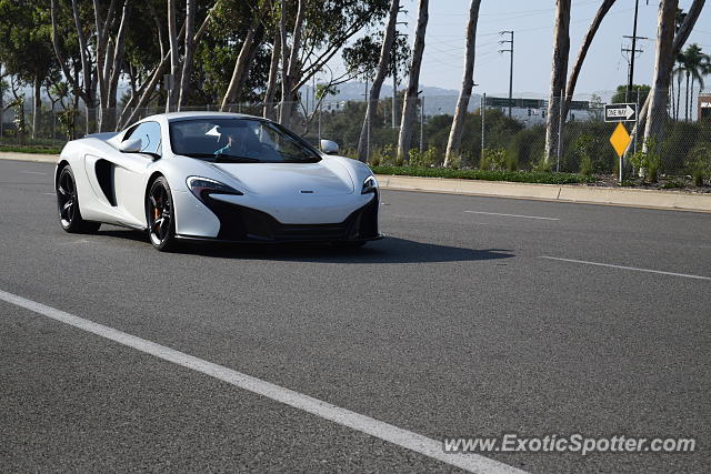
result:
[(452, 128), (449, 131), (447, 151), (444, 152), (444, 167), (449, 167), (454, 157), (459, 155), (459, 149), (464, 132), (464, 117), (469, 109), (471, 90), (474, 87), (474, 58), (477, 53), (477, 27), (479, 24), (479, 7), (481, 0), (471, 0), (469, 6), (469, 22), (467, 23), (467, 49), (464, 50), (464, 74), (462, 77), (462, 88), (457, 99)]

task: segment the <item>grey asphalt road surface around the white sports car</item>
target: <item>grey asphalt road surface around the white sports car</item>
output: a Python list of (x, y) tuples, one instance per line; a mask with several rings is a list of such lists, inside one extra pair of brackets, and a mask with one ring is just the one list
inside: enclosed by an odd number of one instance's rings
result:
[[(64, 233), (52, 171), (0, 161), (2, 291), (432, 440), (697, 440), (485, 454), (525, 471), (711, 465), (709, 214), (383, 192), (364, 249), (162, 254)], [(454, 470), (6, 301), (0, 361), (0, 472)]]

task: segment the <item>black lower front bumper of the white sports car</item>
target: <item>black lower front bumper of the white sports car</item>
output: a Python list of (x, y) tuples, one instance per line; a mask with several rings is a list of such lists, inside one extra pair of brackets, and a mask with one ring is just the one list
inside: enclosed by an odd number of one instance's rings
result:
[[(284, 224), (267, 212), (207, 198), (204, 205), (220, 222), (216, 236), (179, 233), (181, 239), (219, 240), (229, 242), (362, 242), (381, 239), (378, 232), (379, 195), (336, 223)], [(318, 212), (318, 210), (314, 210)]]

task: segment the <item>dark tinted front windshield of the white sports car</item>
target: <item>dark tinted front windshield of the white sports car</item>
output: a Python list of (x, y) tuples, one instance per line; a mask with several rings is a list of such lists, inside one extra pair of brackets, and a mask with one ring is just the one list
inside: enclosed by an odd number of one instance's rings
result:
[(314, 163), (321, 158), (283, 127), (259, 119), (193, 119), (170, 123), (176, 154), (230, 163)]

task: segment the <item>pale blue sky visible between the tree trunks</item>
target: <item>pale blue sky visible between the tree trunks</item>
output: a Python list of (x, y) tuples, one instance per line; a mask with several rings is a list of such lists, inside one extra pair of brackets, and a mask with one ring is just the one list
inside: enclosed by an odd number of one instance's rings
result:
[[(411, 40), (418, 18), (418, 1), (403, 0), (399, 21), (401, 31), (408, 31)], [(570, 23), (570, 65), (601, 0), (573, 0)], [(634, 65), (634, 82), (651, 82), (657, 37), (658, 0), (640, 0), (638, 36), (639, 54)], [(461, 85), (464, 53), (464, 30), (469, 14), (469, 0), (430, 0), (429, 24), (425, 36), (424, 58), (420, 83), (430, 87), (458, 90)], [(680, 0), (680, 8), (688, 10), (691, 0)], [(518, 97), (543, 98), (550, 88), (552, 61), (554, 0), (482, 0), (477, 31), (477, 59), (474, 92), (507, 97), (509, 90), (509, 56), (499, 53), (507, 44), (501, 30), (514, 31), (513, 92)], [(600, 93), (609, 95), (617, 85), (627, 82), (628, 61), (621, 48), (629, 48), (623, 36), (632, 34), (634, 0), (618, 0), (604, 18), (588, 52), (577, 85), (577, 95)], [(687, 44), (699, 43), (711, 53), (711, 7), (702, 11)], [(708, 80), (711, 89), (711, 78)], [(601, 93), (602, 92), (602, 93)]]

